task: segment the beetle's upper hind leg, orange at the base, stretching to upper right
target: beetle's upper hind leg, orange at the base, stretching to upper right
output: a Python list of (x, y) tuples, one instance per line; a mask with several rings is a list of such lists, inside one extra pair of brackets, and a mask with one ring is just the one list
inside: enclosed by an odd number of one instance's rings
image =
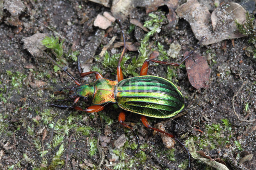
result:
[[(200, 43), (205, 39), (206, 37), (203, 37), (200, 42), (198, 43), (198, 45), (196, 45), (196, 47), (194, 48), (194, 50), (196, 50), (198, 48), (198, 46), (200, 45)], [(148, 63), (149, 61), (152, 61), (154, 63), (160, 63), (160, 64), (166, 64), (166, 65), (173, 65), (173, 66), (180, 66), (186, 59), (188, 59), (188, 57), (190, 57), (190, 55), (192, 53), (194, 53), (193, 51), (190, 51), (190, 53), (180, 62), (180, 63), (170, 63), (170, 62), (165, 62), (165, 61), (158, 61), (158, 60), (154, 60), (154, 59), (146, 59), (141, 67), (140, 70), (140, 75), (147, 75), (148, 74)]]

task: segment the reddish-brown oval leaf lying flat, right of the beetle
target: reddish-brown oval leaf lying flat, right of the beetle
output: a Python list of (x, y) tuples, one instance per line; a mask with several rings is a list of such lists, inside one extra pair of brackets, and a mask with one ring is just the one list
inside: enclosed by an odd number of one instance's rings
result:
[[(189, 52), (186, 51), (184, 56), (188, 55), (188, 53)], [(186, 60), (186, 70), (188, 80), (193, 87), (196, 89), (206, 88), (211, 69), (204, 57), (200, 56), (198, 53), (194, 53), (193, 56)]]

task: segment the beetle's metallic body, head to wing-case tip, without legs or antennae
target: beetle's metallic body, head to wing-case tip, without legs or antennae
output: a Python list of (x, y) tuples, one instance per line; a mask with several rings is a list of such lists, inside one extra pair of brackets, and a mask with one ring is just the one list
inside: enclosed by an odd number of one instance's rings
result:
[(147, 117), (173, 117), (185, 106), (182, 93), (172, 82), (152, 75), (120, 82), (100, 78), (93, 85), (81, 85), (76, 90), (76, 97), (90, 98), (93, 105), (117, 103), (126, 111)]

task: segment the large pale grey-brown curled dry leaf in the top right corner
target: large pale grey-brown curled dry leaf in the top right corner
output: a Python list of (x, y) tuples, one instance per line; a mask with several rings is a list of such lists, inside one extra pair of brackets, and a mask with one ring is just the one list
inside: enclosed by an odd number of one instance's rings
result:
[(235, 21), (242, 24), (246, 20), (245, 12), (237, 3), (224, 3), (210, 14), (208, 8), (197, 0), (188, 0), (176, 10), (180, 18), (189, 22), (198, 40), (206, 36), (203, 45), (245, 36), (238, 32), (235, 24)]

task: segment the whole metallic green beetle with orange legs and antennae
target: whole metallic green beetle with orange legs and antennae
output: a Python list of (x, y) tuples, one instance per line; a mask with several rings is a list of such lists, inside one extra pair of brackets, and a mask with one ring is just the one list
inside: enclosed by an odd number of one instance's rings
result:
[[(138, 148), (136, 152), (138, 151), (140, 146), (139, 138), (136, 132), (134, 131), (133, 127), (124, 123), (126, 117), (125, 111), (130, 111), (132, 113), (139, 114), (141, 116), (142, 123), (147, 128), (156, 130), (167, 136), (170, 136), (171, 138), (174, 138), (178, 143), (180, 143), (185, 148), (188, 154), (188, 166), (190, 168), (190, 153), (186, 146), (180, 140), (178, 140), (178, 138), (176, 138), (173, 134), (152, 127), (146, 119), (146, 117), (174, 117), (175, 115), (180, 113), (182, 109), (184, 109), (185, 99), (180, 90), (171, 81), (168, 81), (167, 79), (164, 79), (162, 77), (147, 75), (147, 73), (150, 62), (180, 66), (186, 59), (188, 59), (188, 57), (190, 57), (190, 55), (194, 51), (191, 51), (180, 63), (170, 63), (154, 59), (146, 59), (142, 65), (140, 76), (124, 79), (120, 63), (122, 61), (124, 53), (126, 52), (126, 42), (122, 26), (121, 30), (124, 41), (124, 47), (116, 69), (117, 80), (104, 78), (99, 72), (96, 71), (82, 73), (80, 68), (80, 59), (78, 57), (78, 71), (80, 73), (80, 77), (84, 77), (90, 74), (94, 74), (96, 77), (96, 80), (92, 85), (81, 85), (70, 73), (68, 73), (68, 71), (66, 71), (66, 69), (62, 68), (60, 65), (56, 63), (56, 61), (54, 61), (49, 55), (46, 54), (46, 56), (50, 60), (52, 60), (58, 67), (60, 67), (60, 69), (66, 72), (76, 83), (75, 86), (69, 89), (68, 93), (69, 99), (74, 99), (73, 105), (51, 105), (55, 107), (75, 109), (86, 113), (95, 113), (102, 111), (105, 108), (105, 105), (107, 105), (108, 103), (116, 103), (121, 109), (124, 110), (119, 113), (119, 123), (126, 128), (130, 128), (134, 132), (138, 140)], [(204, 38), (205, 37), (203, 37), (202, 40), (204, 40)], [(202, 40), (200, 40), (195, 49), (200, 45)], [(87, 99), (90, 99), (92, 101), (92, 105), (90, 107), (87, 107), (86, 109), (82, 109), (81, 107), (76, 106), (75, 104), (80, 99), (86, 101)]]

